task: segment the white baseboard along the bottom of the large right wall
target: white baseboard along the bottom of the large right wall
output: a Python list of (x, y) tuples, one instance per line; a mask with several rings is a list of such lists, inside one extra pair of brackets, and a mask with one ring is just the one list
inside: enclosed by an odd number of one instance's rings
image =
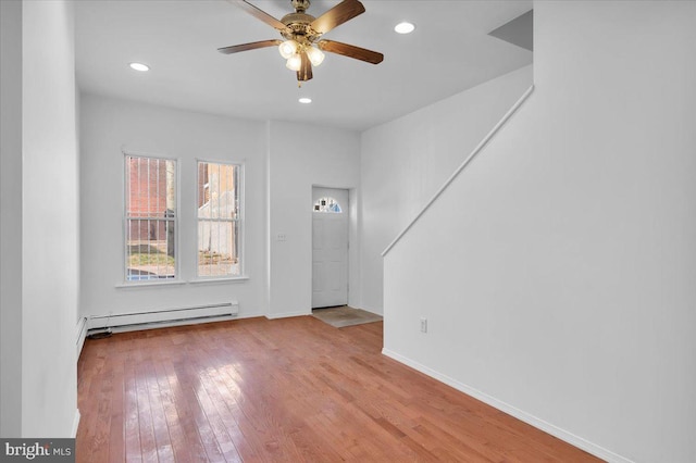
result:
[(554, 437), (557, 437), (579, 449), (582, 449), (593, 455), (602, 459), (609, 463), (634, 463), (632, 460), (623, 458), (617, 453), (613, 453), (610, 450), (605, 449), (604, 447), (597, 446), (593, 442), (589, 442), (583, 439), (580, 436), (575, 436), (572, 433), (569, 433), (564, 429), (561, 429), (550, 423), (545, 422), (544, 420), (537, 418), (534, 415), (531, 415), (523, 410), (520, 410), (515, 406), (510, 405), (501, 400), (496, 399), (495, 397), (490, 397), (477, 389), (472, 388), (463, 383), (460, 383), (453, 378), (450, 378), (447, 375), (444, 375), (435, 370), (428, 368), (427, 366), (415, 362), (409, 358), (400, 355), (394, 351), (388, 349), (382, 349), (382, 353), (390, 359), (396, 360), (399, 363), (402, 363), (407, 366), (410, 366), (413, 370), (417, 370), (432, 378), (437, 379), (440, 383), (446, 384), (447, 386), (453, 387), (460, 392), (465, 393), (467, 396), (471, 396), (474, 399), (481, 400), (482, 402), (493, 406), (494, 409), (500, 410), (524, 423), (534, 426), (537, 429), (543, 430), (544, 433), (550, 434)]

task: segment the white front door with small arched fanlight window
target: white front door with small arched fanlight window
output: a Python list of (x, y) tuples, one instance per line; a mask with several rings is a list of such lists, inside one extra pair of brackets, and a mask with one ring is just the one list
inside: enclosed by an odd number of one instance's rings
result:
[(312, 309), (348, 303), (348, 190), (312, 188)]

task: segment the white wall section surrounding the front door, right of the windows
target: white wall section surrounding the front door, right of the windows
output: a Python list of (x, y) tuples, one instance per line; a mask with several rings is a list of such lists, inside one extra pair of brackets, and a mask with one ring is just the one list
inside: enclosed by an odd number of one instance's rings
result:
[[(312, 186), (355, 189), (360, 175), (359, 153), (357, 133), (269, 123), (269, 317), (311, 313)], [(353, 190), (351, 199), (355, 197)], [(355, 214), (350, 221), (355, 230)], [(278, 235), (287, 239), (279, 241)], [(351, 233), (349, 239), (355, 238)], [(358, 247), (352, 245), (349, 278), (357, 280)], [(356, 290), (351, 287), (351, 291)], [(349, 302), (353, 299), (349, 296)]]

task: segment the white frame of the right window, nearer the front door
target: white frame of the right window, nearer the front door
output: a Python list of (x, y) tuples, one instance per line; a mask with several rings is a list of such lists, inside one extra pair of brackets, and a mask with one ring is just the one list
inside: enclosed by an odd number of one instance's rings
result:
[[(199, 242), (199, 222), (201, 221), (201, 218), (199, 218), (198, 216), (198, 203), (199, 203), (199, 195), (201, 191), (201, 188), (198, 184), (199, 182), (199, 170), (200, 170), (200, 165), (202, 163), (206, 164), (221, 164), (221, 165), (231, 165), (231, 166), (235, 166), (237, 167), (237, 203), (238, 203), (238, 209), (237, 209), (237, 217), (236, 218), (232, 218), (232, 220), (217, 220), (217, 222), (236, 222), (237, 223), (237, 234), (236, 234), (236, 239), (237, 239), (237, 260), (239, 263), (239, 272), (236, 275), (200, 275), (199, 274), (199, 249), (198, 249), (198, 242)], [(245, 271), (245, 188), (246, 188), (246, 183), (245, 183), (245, 172), (246, 172), (246, 166), (245, 163), (243, 162), (235, 162), (235, 161), (231, 161), (231, 160), (216, 160), (216, 159), (196, 159), (196, 198), (195, 198), (195, 209), (194, 209), (194, 217), (195, 217), (195, 227), (196, 227), (196, 247), (194, 249), (194, 262), (196, 263), (196, 271), (195, 271), (195, 275), (196, 275), (196, 280), (195, 281), (225, 281), (225, 280), (243, 280), (243, 279), (248, 279), (248, 277), (246, 276), (246, 271)], [(210, 188), (210, 179), (204, 183), (202, 185), (202, 187), (204, 186), (209, 186)], [(203, 188), (204, 189), (204, 188)], [(204, 218), (206, 221), (208, 221), (208, 218)]]

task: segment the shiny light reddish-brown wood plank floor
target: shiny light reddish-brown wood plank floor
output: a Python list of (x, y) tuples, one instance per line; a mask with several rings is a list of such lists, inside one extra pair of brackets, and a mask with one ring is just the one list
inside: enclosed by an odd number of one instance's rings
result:
[(311, 316), (87, 340), (77, 462), (598, 461), (381, 349)]

